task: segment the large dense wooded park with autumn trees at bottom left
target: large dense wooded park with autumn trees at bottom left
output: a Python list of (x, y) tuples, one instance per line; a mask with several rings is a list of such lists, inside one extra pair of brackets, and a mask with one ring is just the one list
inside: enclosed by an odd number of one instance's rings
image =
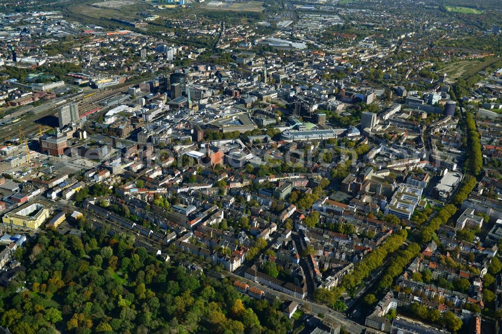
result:
[(133, 244), (123, 233), (41, 234), (16, 254), (31, 263), (26, 273), (0, 288), (0, 325), (14, 334), (291, 330), (279, 304), (242, 303), (231, 281), (172, 268)]

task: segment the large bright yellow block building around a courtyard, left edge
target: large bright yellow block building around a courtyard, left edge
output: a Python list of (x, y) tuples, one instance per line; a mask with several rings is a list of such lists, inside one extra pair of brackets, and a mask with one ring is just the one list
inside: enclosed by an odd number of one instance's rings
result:
[(50, 216), (49, 203), (33, 201), (4, 215), (2, 222), (15, 229), (36, 230)]

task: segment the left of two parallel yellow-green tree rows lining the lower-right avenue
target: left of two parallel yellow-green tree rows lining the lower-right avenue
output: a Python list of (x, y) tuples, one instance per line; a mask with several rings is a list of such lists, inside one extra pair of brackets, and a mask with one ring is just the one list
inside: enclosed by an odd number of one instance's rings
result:
[(351, 273), (343, 276), (341, 286), (349, 290), (359, 285), (373, 270), (379, 268), (390, 254), (401, 247), (407, 236), (406, 230), (403, 229), (388, 237), (380, 247), (357, 262)]

